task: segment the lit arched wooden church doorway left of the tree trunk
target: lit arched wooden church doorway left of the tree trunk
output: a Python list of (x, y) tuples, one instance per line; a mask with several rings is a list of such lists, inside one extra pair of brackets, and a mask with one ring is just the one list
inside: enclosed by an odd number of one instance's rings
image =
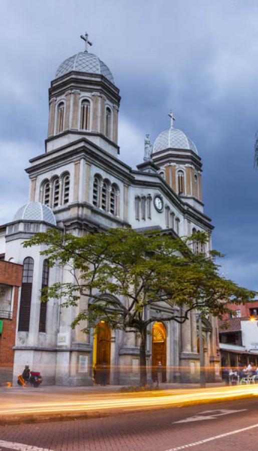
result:
[(111, 330), (105, 321), (97, 324), (93, 341), (93, 377), (97, 384), (102, 383), (103, 371), (106, 373), (106, 382), (110, 379), (110, 343)]

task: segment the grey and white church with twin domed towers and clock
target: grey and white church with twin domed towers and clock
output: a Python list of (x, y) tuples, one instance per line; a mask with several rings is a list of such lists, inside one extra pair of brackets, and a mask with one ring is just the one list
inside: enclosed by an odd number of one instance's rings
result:
[[(137, 169), (123, 162), (123, 149), (120, 156), (118, 146), (119, 88), (108, 66), (90, 53), (87, 33), (81, 38), (85, 50), (62, 62), (51, 81), (45, 152), (33, 156), (26, 169), (28, 203), (1, 226), (1, 253), (6, 261), (23, 265), (14, 381), (28, 364), (41, 371), (45, 384), (91, 385), (96, 367), (106, 363), (110, 384), (137, 384), (137, 336), (112, 330), (105, 323), (98, 333), (92, 330), (86, 335), (80, 326), (72, 330), (71, 322), (87, 300), (69, 308), (62, 308), (55, 299), (42, 304), (42, 287), (69, 282), (72, 276), (62, 267), (49, 269), (40, 254), (43, 247), (26, 249), (23, 243), (50, 226), (76, 236), (123, 227), (173, 231), (178, 236), (194, 231), (210, 235), (213, 226), (203, 212), (201, 158), (193, 141), (174, 128), (172, 113), (153, 146), (150, 136), (145, 136)], [(204, 245), (193, 246), (193, 252), (208, 251)], [(197, 382), (200, 334), (195, 312), (182, 325), (160, 320), (149, 332), (148, 380), (152, 367), (161, 361), (163, 382)], [(206, 379), (219, 380), (213, 317), (203, 320), (202, 342)]]

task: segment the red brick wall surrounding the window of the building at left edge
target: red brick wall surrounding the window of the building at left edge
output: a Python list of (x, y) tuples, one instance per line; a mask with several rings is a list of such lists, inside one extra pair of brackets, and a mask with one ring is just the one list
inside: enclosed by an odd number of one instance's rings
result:
[(12, 367), (14, 364), (16, 318), (18, 309), (19, 287), (22, 285), (23, 266), (12, 262), (0, 261), (0, 284), (14, 287), (13, 319), (3, 320), (3, 331), (0, 335), (0, 366)]

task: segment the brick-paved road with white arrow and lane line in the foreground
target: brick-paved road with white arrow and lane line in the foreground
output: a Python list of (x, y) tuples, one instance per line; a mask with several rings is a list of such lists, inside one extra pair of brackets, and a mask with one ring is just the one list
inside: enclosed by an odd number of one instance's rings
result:
[(258, 398), (254, 397), (181, 408), (126, 411), (96, 419), (0, 426), (0, 449), (255, 451), (257, 403)]

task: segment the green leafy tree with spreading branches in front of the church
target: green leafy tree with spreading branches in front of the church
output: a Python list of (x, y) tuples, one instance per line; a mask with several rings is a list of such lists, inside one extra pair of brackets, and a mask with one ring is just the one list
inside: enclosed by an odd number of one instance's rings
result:
[[(151, 323), (183, 323), (195, 309), (221, 318), (230, 311), (226, 302), (245, 303), (256, 294), (220, 275), (215, 261), (221, 256), (218, 252), (194, 254), (191, 248), (196, 240), (204, 243), (207, 235), (197, 232), (178, 238), (111, 229), (76, 237), (50, 229), (35, 234), (24, 246), (46, 245), (42, 254), (50, 267), (62, 265), (73, 275), (71, 283), (55, 283), (44, 290), (43, 302), (60, 299), (68, 307), (77, 305), (82, 295), (89, 298), (72, 327), (87, 320), (87, 333), (104, 320), (112, 328), (139, 335), (140, 381), (145, 385), (146, 336)], [(158, 306), (169, 313), (153, 313)]]

